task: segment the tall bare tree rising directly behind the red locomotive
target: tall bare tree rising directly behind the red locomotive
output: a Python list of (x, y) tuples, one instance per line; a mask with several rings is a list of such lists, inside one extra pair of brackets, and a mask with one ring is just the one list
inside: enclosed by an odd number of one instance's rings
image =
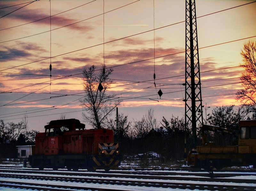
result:
[(83, 70), (85, 96), (83, 99), (80, 99), (80, 102), (87, 113), (83, 113), (82, 116), (85, 122), (96, 129), (104, 126), (104, 122), (107, 121), (106, 117), (121, 102), (118, 97), (106, 93), (110, 85), (114, 83), (109, 78), (112, 72), (112, 68), (107, 69), (105, 66), (102, 66), (99, 72), (96, 73), (96, 66), (94, 65)]

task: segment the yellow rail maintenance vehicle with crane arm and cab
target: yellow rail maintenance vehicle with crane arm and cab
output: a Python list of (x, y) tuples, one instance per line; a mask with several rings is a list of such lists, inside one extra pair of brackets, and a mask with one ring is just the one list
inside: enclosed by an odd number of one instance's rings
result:
[(240, 121), (236, 146), (214, 146), (213, 143), (206, 143), (205, 131), (234, 134), (231, 130), (211, 125), (203, 125), (201, 130), (203, 146), (189, 151), (188, 166), (207, 170), (250, 165), (256, 168), (256, 120)]

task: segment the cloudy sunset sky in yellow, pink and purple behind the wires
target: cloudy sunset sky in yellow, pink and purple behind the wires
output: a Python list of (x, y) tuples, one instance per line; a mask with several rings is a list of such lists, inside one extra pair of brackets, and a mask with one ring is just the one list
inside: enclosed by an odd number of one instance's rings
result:
[[(0, 8), (21, 4), (0, 9), (0, 17), (30, 1), (0, 1)], [(185, 22), (182, 22), (185, 21), (185, 2), (155, 0), (155, 29), (163, 27), (155, 30), (156, 57), (185, 51)], [(235, 93), (242, 88), (239, 77), (244, 69), (234, 66), (242, 63), (240, 51), (243, 44), (248, 40), (256, 41), (253, 37), (256, 36), (256, 3), (247, 4), (250, 2), (253, 1), (196, 0), (202, 99), (203, 105), (207, 103), (211, 109), (241, 104), (236, 102)], [(247, 5), (222, 11), (243, 4)], [(114, 67), (110, 77), (116, 82), (108, 94), (118, 94), (123, 99), (118, 107), (119, 113), (136, 121), (152, 107), (157, 121), (161, 121), (163, 116), (166, 119), (172, 115), (183, 117), (185, 89), (180, 84), (185, 83), (185, 76), (181, 76), (185, 74), (185, 53), (156, 58), (157, 87), (152, 86), (154, 32), (150, 30), (154, 29), (153, 0), (105, 0), (104, 11), (107, 12), (104, 41), (116, 40), (105, 44), (105, 65)], [(217, 11), (222, 12), (214, 13)], [(210, 13), (214, 14), (204, 16)], [(93, 64), (100, 69), (103, 64), (103, 0), (51, 0), (51, 15), (55, 15), (51, 20), (51, 43), (50, 18), (46, 18), (50, 16), (49, 0), (33, 2), (0, 18), (0, 91), (4, 92), (0, 94), (0, 119), (4, 122), (17, 123), (27, 114), (29, 128), (43, 131), (44, 125), (60, 119), (61, 113), (82, 121), (79, 99), (83, 97), (83, 80), (81, 74), (75, 74), (82, 73), (84, 68)], [(36, 21), (39, 19), (42, 20)], [(26, 24), (29, 22), (33, 23)], [(168, 26), (171, 24), (175, 25)], [(134, 36), (124, 38), (131, 35)], [(117, 40), (120, 38), (124, 39)], [(233, 40), (238, 41), (212, 46)], [(203, 48), (207, 46), (212, 47)], [(51, 94), (50, 59), (47, 59), (50, 55), (53, 57)], [(117, 66), (122, 64), (127, 65)], [(59, 79), (67, 75), (74, 76)], [(141, 81), (147, 82), (134, 84)], [(156, 95), (160, 84), (164, 93), (161, 99)], [(140, 90), (149, 86), (152, 88)], [(29, 94), (31, 92), (35, 93)], [(76, 95), (53, 97), (59, 94)], [(26, 97), (21, 98), (23, 96)], [(148, 97), (137, 98), (141, 96)], [(149, 98), (158, 98), (159, 102)], [(115, 114), (111, 117), (114, 118)], [(91, 128), (88, 124), (86, 127)]]

